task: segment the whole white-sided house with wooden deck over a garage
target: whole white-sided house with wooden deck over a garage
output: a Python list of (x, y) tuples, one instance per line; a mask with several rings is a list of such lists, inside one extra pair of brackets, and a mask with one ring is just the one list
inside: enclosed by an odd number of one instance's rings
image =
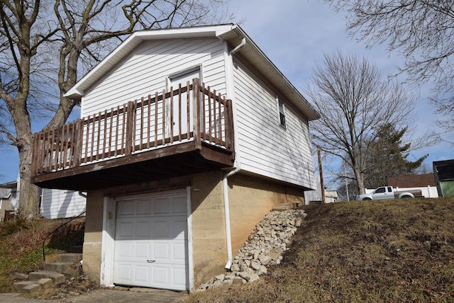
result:
[(319, 114), (238, 25), (133, 33), (67, 96), (81, 119), (35, 134), (32, 181), (87, 191), (101, 285), (194, 290), (316, 187)]

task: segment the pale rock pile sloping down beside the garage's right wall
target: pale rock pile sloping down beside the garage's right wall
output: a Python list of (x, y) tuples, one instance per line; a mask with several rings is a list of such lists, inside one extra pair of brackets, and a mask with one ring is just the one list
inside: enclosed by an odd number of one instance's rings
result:
[(304, 217), (304, 210), (269, 212), (241, 246), (233, 260), (231, 271), (216, 275), (199, 288), (206, 290), (223, 284), (259, 280), (260, 275), (267, 273), (267, 266), (280, 263), (282, 253), (288, 249), (287, 246)]

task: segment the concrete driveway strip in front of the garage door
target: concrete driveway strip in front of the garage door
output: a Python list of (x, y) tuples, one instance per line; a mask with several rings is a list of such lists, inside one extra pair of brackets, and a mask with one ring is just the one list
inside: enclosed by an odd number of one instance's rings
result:
[(102, 288), (85, 295), (68, 297), (58, 300), (26, 299), (17, 293), (0, 294), (1, 303), (175, 303), (182, 302), (187, 298), (187, 292), (173, 292), (172, 290), (155, 290), (149, 288), (123, 288), (116, 287), (114, 290)]

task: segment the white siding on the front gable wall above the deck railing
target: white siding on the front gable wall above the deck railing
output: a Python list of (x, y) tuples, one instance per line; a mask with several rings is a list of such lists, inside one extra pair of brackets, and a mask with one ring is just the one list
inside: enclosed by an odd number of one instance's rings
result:
[(101, 77), (82, 98), (82, 117), (140, 100), (166, 89), (166, 76), (197, 65), (202, 81), (226, 93), (223, 42), (218, 39), (144, 42)]

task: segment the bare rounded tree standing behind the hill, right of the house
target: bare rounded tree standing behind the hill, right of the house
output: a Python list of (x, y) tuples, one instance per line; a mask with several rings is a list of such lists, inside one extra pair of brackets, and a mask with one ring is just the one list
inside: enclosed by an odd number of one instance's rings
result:
[(305, 89), (321, 119), (312, 122), (314, 144), (345, 161), (352, 169), (360, 194), (365, 193), (365, 171), (370, 142), (376, 129), (390, 124), (405, 127), (414, 101), (402, 86), (382, 78), (365, 58), (325, 55)]

